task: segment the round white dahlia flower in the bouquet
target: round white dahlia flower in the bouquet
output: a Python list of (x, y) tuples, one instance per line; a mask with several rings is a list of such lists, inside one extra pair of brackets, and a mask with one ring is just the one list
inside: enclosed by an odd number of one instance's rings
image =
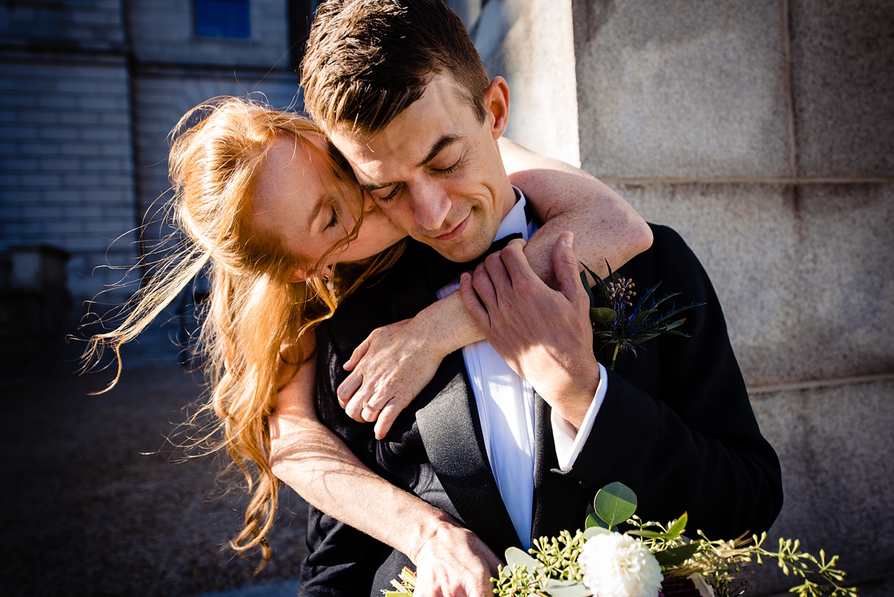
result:
[(598, 597), (656, 597), (664, 580), (643, 542), (621, 533), (591, 537), (578, 561), (584, 584)]

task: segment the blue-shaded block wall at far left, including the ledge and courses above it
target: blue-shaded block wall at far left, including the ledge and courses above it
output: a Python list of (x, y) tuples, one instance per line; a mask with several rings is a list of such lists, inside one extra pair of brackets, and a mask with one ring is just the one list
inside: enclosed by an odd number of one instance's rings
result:
[(138, 226), (122, 13), (78, 4), (9, 3), (0, 15), (0, 252), (72, 252), (75, 304), (122, 277), (97, 266), (133, 265)]

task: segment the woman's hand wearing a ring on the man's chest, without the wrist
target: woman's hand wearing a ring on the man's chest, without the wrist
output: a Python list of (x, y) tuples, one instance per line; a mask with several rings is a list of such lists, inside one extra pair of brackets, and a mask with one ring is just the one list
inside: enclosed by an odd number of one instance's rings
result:
[(344, 364), (351, 373), (338, 388), (339, 404), (355, 421), (375, 421), (376, 439), (385, 437), (446, 355), (425, 331), (416, 319), (376, 328)]

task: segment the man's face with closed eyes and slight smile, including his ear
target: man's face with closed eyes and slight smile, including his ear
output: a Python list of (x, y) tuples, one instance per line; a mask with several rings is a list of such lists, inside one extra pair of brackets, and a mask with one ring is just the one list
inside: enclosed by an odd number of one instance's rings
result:
[(360, 185), (409, 235), (454, 261), (475, 259), (493, 242), (515, 203), (497, 139), (506, 128), (509, 90), (495, 79), (487, 117), (451, 75), (434, 75), (422, 98), (371, 136), (330, 132)]

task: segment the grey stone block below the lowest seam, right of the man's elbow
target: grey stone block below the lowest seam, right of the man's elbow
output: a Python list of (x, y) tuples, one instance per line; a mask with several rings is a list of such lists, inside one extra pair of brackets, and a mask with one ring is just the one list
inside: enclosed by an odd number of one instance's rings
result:
[[(770, 545), (780, 536), (800, 538), (814, 555), (821, 548), (838, 554), (851, 582), (894, 570), (894, 375), (827, 387), (753, 391), (752, 404), (782, 464), (785, 504), (771, 529)], [(772, 567), (755, 570), (759, 593), (791, 586)], [(890, 583), (881, 585), (890, 588)], [(870, 585), (861, 594), (881, 591)]]

